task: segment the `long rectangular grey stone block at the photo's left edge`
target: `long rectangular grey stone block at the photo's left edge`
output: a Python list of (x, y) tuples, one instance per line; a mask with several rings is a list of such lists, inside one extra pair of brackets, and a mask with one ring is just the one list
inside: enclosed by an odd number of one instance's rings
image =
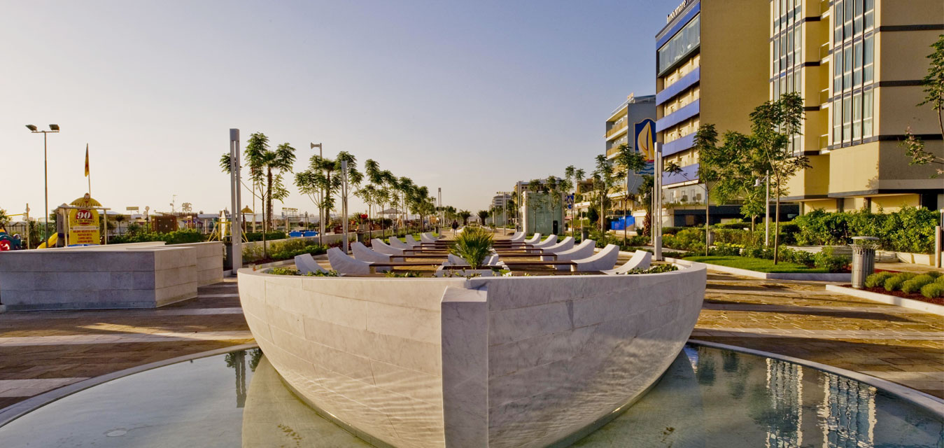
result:
[(10, 311), (154, 308), (196, 297), (196, 249), (174, 246), (0, 252)]

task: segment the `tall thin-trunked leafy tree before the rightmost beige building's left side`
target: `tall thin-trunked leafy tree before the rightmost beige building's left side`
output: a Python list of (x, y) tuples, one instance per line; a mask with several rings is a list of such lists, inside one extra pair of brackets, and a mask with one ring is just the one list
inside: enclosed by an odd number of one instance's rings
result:
[(786, 181), (798, 171), (810, 167), (809, 158), (795, 155), (789, 149), (790, 140), (800, 134), (803, 120), (803, 98), (795, 93), (784, 94), (777, 100), (766, 101), (750, 112), (751, 140), (756, 159), (763, 161), (770, 173), (773, 186), (774, 233), (773, 263), (780, 254), (780, 198), (786, 192)]

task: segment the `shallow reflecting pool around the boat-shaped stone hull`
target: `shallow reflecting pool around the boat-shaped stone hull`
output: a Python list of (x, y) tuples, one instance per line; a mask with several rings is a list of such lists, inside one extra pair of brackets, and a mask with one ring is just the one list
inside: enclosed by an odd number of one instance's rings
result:
[[(944, 445), (930, 411), (776, 359), (685, 346), (639, 402), (580, 447)], [(0, 427), (0, 447), (365, 447), (282, 384), (257, 350), (179, 363), (65, 397)]]

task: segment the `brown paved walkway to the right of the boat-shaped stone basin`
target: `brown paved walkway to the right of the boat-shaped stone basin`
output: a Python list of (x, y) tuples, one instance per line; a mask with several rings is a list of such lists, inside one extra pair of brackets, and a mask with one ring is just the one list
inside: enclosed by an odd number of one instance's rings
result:
[(944, 398), (944, 319), (825, 291), (822, 283), (709, 273), (692, 338), (856, 370)]

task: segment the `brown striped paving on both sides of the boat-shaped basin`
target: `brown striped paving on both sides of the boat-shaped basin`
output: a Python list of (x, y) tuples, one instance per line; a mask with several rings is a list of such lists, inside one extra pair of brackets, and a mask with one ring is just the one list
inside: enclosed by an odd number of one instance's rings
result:
[[(822, 283), (709, 273), (694, 339), (857, 370), (944, 397), (944, 319)], [(252, 342), (234, 279), (153, 310), (0, 314), (0, 407), (117, 370)]]

